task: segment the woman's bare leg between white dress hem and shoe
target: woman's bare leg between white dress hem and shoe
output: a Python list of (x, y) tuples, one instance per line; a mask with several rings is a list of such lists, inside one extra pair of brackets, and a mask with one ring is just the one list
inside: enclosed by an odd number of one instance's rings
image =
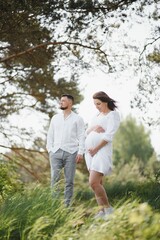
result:
[(90, 171), (89, 185), (95, 193), (98, 205), (102, 206), (103, 208), (109, 208), (110, 204), (108, 201), (106, 191), (102, 185), (102, 178), (103, 178), (102, 173)]

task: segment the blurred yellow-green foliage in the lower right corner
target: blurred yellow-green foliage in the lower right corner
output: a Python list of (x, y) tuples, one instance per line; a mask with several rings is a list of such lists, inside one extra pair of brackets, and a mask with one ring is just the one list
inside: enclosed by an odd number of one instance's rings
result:
[[(160, 236), (159, 214), (153, 213), (146, 204), (125, 203), (119, 207), (107, 222), (91, 225), (83, 239), (138, 239), (156, 240)], [(80, 239), (82, 239), (80, 238)]]

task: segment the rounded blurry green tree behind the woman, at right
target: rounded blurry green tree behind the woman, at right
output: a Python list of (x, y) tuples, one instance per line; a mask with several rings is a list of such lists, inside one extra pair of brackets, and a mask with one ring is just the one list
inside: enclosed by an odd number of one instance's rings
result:
[(149, 132), (146, 132), (142, 124), (128, 116), (121, 122), (114, 141), (114, 163), (123, 165), (134, 161), (135, 158), (146, 164), (153, 154), (153, 147)]

